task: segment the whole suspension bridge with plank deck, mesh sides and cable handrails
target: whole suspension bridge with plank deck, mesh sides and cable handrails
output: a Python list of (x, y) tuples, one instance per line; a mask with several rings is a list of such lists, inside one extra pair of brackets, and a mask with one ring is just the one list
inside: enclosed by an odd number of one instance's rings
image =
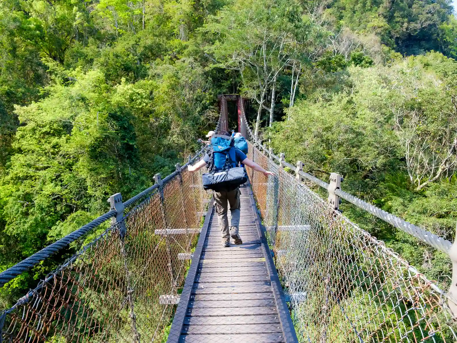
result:
[[(187, 171), (0, 273), (15, 279), (74, 241), (82, 248), (0, 314), (1, 342), (456, 342), (457, 246), (344, 192), (255, 139), (240, 96), (220, 96), (217, 130), (237, 102), (248, 157), (243, 244), (223, 248), (212, 194)], [(328, 198), (312, 190), (318, 185)], [(441, 287), (339, 211), (348, 201), (449, 256)], [(93, 239), (88, 238), (88, 233)]]

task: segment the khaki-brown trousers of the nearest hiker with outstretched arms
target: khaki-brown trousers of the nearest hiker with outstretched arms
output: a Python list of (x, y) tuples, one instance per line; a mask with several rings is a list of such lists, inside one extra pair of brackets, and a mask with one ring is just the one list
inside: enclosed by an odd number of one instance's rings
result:
[[(240, 191), (239, 188), (233, 191), (214, 191), (214, 202), (216, 203), (216, 211), (218, 212), (219, 229), (222, 232), (222, 238), (230, 237), (230, 234), (238, 234), (239, 227), (239, 209), (240, 209)], [(232, 232), (228, 227), (228, 204), (230, 204), (230, 226), (233, 227)]]

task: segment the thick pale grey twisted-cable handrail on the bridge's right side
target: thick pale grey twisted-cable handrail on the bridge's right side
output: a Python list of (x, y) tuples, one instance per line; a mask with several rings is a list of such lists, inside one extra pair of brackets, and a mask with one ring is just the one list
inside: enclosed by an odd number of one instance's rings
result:
[[(252, 133), (252, 130), (250, 129), (250, 127), (248, 125), (248, 122), (246, 121), (244, 108), (242, 108), (241, 113), (244, 116), (244, 121), (246, 123), (246, 131), (250, 136), (250, 137), (246, 137), (246, 138), (248, 140), (251, 140), (253, 145), (257, 146), (260, 151), (263, 150), (263, 153), (266, 155), (269, 155), (271, 160), (279, 162), (280, 166), (285, 166), (285, 167), (289, 168), (291, 171), (295, 172), (296, 174), (301, 175), (302, 177), (305, 177), (307, 180), (314, 182), (315, 184), (319, 185), (322, 188), (325, 188), (326, 190), (329, 189), (329, 183), (324, 182), (324, 181), (320, 180), (319, 178), (317, 178), (309, 173), (306, 173), (302, 170), (298, 170), (297, 166), (293, 166), (292, 164), (281, 159), (281, 156), (277, 156), (277, 155), (273, 154), (272, 148), (267, 149), (265, 145), (262, 145), (260, 140), (255, 138), (254, 134)], [(383, 209), (380, 209), (370, 203), (367, 203), (366, 201), (364, 201), (360, 198), (357, 198), (356, 196), (354, 196), (350, 193), (344, 192), (341, 189), (335, 189), (334, 193), (338, 197), (343, 198), (346, 201), (350, 202), (351, 204), (356, 205), (358, 208), (363, 209), (363, 210), (367, 211), (368, 213), (377, 216), (379, 219), (384, 220), (385, 222), (396, 227), (397, 229), (400, 229), (400, 230), (408, 233), (409, 235), (416, 237), (420, 241), (423, 241), (424, 243), (440, 250), (441, 252), (444, 252), (446, 255), (449, 256), (449, 251), (452, 247), (451, 241), (448, 241), (438, 235), (435, 235), (434, 233), (432, 233), (428, 230), (424, 230), (417, 225), (411, 224), (408, 221), (403, 220), (394, 214), (386, 212)]]

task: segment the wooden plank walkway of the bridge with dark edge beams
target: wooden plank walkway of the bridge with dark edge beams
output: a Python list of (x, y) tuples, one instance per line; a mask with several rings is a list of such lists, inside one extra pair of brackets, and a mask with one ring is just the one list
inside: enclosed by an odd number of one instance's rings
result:
[(242, 245), (223, 247), (217, 214), (208, 216), (167, 343), (297, 342), (250, 186), (241, 188)]

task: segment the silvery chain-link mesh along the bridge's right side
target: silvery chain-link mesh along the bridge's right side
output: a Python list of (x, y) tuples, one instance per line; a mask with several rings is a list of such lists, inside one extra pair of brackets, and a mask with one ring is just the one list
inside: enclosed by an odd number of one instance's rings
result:
[(434, 281), (252, 145), (249, 127), (242, 134), (248, 157), (277, 175), (249, 170), (301, 342), (457, 341)]

